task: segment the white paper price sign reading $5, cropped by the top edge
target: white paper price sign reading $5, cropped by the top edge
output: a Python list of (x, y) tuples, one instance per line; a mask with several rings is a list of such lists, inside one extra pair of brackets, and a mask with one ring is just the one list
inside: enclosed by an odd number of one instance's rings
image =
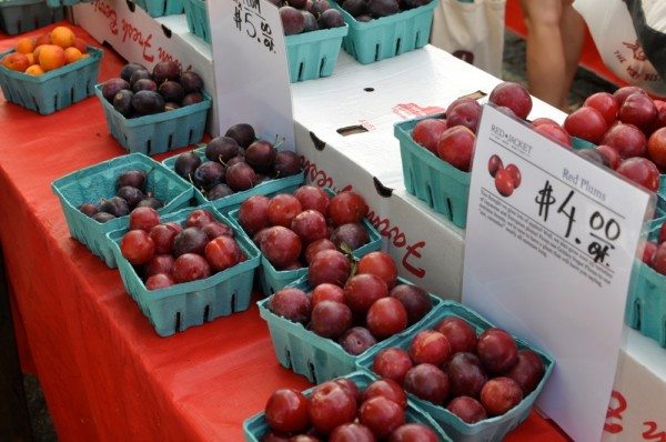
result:
[(208, 1), (220, 130), (250, 123), (294, 150), (289, 69), (278, 8), (265, 0)]

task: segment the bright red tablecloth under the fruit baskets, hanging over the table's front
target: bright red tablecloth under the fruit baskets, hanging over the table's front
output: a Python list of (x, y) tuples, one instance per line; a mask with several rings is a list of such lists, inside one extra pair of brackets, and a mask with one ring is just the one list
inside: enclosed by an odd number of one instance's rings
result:
[[(121, 64), (104, 50), (100, 80)], [(309, 386), (280, 366), (255, 305), (159, 338), (118, 271), (70, 238), (51, 181), (124, 153), (97, 98), (49, 117), (0, 99), (0, 241), (60, 440), (241, 441), (274, 389)], [(565, 438), (533, 413), (507, 440)]]

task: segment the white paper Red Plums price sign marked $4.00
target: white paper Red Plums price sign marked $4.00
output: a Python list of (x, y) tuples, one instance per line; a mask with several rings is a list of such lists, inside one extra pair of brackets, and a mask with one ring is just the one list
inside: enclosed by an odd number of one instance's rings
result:
[(463, 302), (555, 359), (537, 404), (574, 440), (601, 439), (652, 211), (654, 195), (484, 107)]

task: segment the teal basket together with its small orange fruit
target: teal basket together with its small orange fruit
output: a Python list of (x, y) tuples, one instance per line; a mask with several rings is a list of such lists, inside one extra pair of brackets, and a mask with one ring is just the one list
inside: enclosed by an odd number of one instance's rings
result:
[(0, 53), (0, 88), (7, 101), (47, 115), (94, 94), (101, 58), (100, 49), (57, 27)]

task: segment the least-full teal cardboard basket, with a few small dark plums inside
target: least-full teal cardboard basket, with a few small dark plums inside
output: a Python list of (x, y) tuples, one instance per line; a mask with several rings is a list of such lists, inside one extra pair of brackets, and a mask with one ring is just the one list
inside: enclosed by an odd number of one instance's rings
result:
[(72, 172), (51, 183), (53, 193), (60, 199), (72, 238), (85, 245), (110, 268), (115, 268), (115, 257), (107, 233), (128, 225), (129, 215), (100, 223), (83, 214), (79, 207), (115, 195), (118, 177), (122, 172), (137, 169), (148, 174), (147, 191), (164, 203), (164, 207), (158, 210), (160, 215), (190, 205), (194, 192), (192, 185), (181, 180), (173, 171), (141, 153), (118, 157)]

